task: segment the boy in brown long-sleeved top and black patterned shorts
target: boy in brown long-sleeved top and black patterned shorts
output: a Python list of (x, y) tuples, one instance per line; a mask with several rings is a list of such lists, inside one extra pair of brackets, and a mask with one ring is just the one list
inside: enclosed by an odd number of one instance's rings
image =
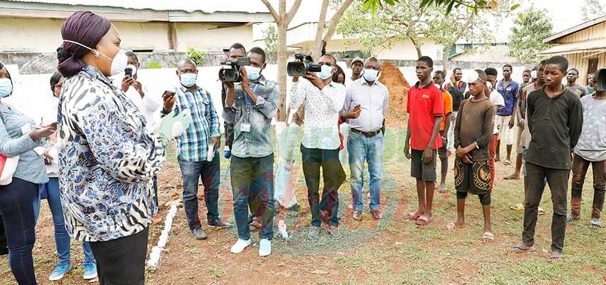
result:
[[(496, 108), (486, 96), (486, 73), (476, 69), (469, 81), (473, 98), (464, 100), (455, 123), (455, 186), (457, 199), (456, 222), (445, 229), (456, 229), (465, 224), (465, 199), (468, 192), (478, 195), (484, 216), (482, 242), (493, 242), (491, 229), (491, 155), (488, 145), (493, 139)], [(475, 79), (473, 79), (475, 78)]]

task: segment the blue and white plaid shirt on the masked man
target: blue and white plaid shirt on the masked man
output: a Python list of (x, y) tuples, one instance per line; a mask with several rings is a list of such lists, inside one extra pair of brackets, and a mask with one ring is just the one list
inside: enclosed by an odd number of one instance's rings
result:
[[(183, 135), (176, 138), (178, 155), (182, 160), (205, 161), (210, 138), (221, 137), (219, 116), (212, 105), (210, 93), (200, 86), (196, 86), (194, 93), (179, 86), (175, 96), (177, 100), (173, 112), (178, 114), (183, 110), (190, 110), (192, 115), (192, 124), (185, 129)], [(164, 110), (162, 115), (165, 115)]]

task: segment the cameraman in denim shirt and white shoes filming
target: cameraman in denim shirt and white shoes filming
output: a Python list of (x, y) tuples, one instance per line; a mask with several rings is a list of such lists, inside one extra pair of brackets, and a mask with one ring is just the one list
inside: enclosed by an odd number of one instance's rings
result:
[[(230, 60), (245, 56), (244, 46), (234, 43)], [(230, 172), (238, 240), (231, 251), (238, 254), (250, 245), (250, 204), (253, 217), (262, 217), (259, 255), (266, 257), (272, 253), (274, 236), (274, 150), (270, 128), (277, 111), (279, 88), (261, 74), (266, 66), (265, 51), (252, 48), (248, 57), (250, 66), (238, 67), (242, 83), (224, 82), (227, 107), (223, 118), (234, 127)]]

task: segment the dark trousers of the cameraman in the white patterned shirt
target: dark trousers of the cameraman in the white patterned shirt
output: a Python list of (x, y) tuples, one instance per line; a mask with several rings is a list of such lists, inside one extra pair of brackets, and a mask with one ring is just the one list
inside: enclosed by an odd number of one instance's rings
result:
[[(345, 172), (339, 161), (339, 150), (321, 150), (301, 145), (303, 174), (307, 185), (307, 201), (312, 209), (312, 226), (322, 226), (320, 210), (327, 213), (331, 226), (339, 225), (339, 187), (345, 181)], [(320, 167), (324, 177), (324, 190), (320, 201)]]

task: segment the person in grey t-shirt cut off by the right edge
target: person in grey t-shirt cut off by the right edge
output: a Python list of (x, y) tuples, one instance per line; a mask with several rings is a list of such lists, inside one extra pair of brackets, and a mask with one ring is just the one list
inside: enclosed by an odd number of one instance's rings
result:
[[(597, 76), (594, 76), (592, 81), (593, 85), (597, 86)], [(594, 194), (590, 226), (602, 228), (604, 224), (600, 222), (600, 212), (604, 206), (606, 192), (606, 90), (596, 90), (594, 95), (581, 98), (581, 104), (585, 120), (575, 147), (575, 156), (572, 158), (572, 211), (568, 222), (580, 219), (583, 182), (591, 165)]]

